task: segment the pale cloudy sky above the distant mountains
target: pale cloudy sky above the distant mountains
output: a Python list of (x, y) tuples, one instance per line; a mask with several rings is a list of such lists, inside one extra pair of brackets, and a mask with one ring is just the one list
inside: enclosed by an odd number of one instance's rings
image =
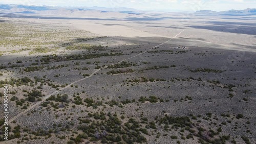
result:
[(137, 10), (198, 11), (256, 8), (256, 0), (1, 0), (0, 4), (61, 7), (126, 7)]

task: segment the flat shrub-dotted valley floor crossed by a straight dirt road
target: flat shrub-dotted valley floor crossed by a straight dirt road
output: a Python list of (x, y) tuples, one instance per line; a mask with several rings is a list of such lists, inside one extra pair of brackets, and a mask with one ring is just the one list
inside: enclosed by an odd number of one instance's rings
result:
[(255, 17), (106, 15), (0, 14), (1, 143), (256, 143)]

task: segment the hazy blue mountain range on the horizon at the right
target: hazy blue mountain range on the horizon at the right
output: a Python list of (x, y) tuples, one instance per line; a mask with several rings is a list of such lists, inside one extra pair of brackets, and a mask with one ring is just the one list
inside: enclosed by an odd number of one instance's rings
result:
[(221, 14), (221, 15), (256, 15), (256, 9), (229, 10), (229, 11), (196, 11), (196, 14)]

